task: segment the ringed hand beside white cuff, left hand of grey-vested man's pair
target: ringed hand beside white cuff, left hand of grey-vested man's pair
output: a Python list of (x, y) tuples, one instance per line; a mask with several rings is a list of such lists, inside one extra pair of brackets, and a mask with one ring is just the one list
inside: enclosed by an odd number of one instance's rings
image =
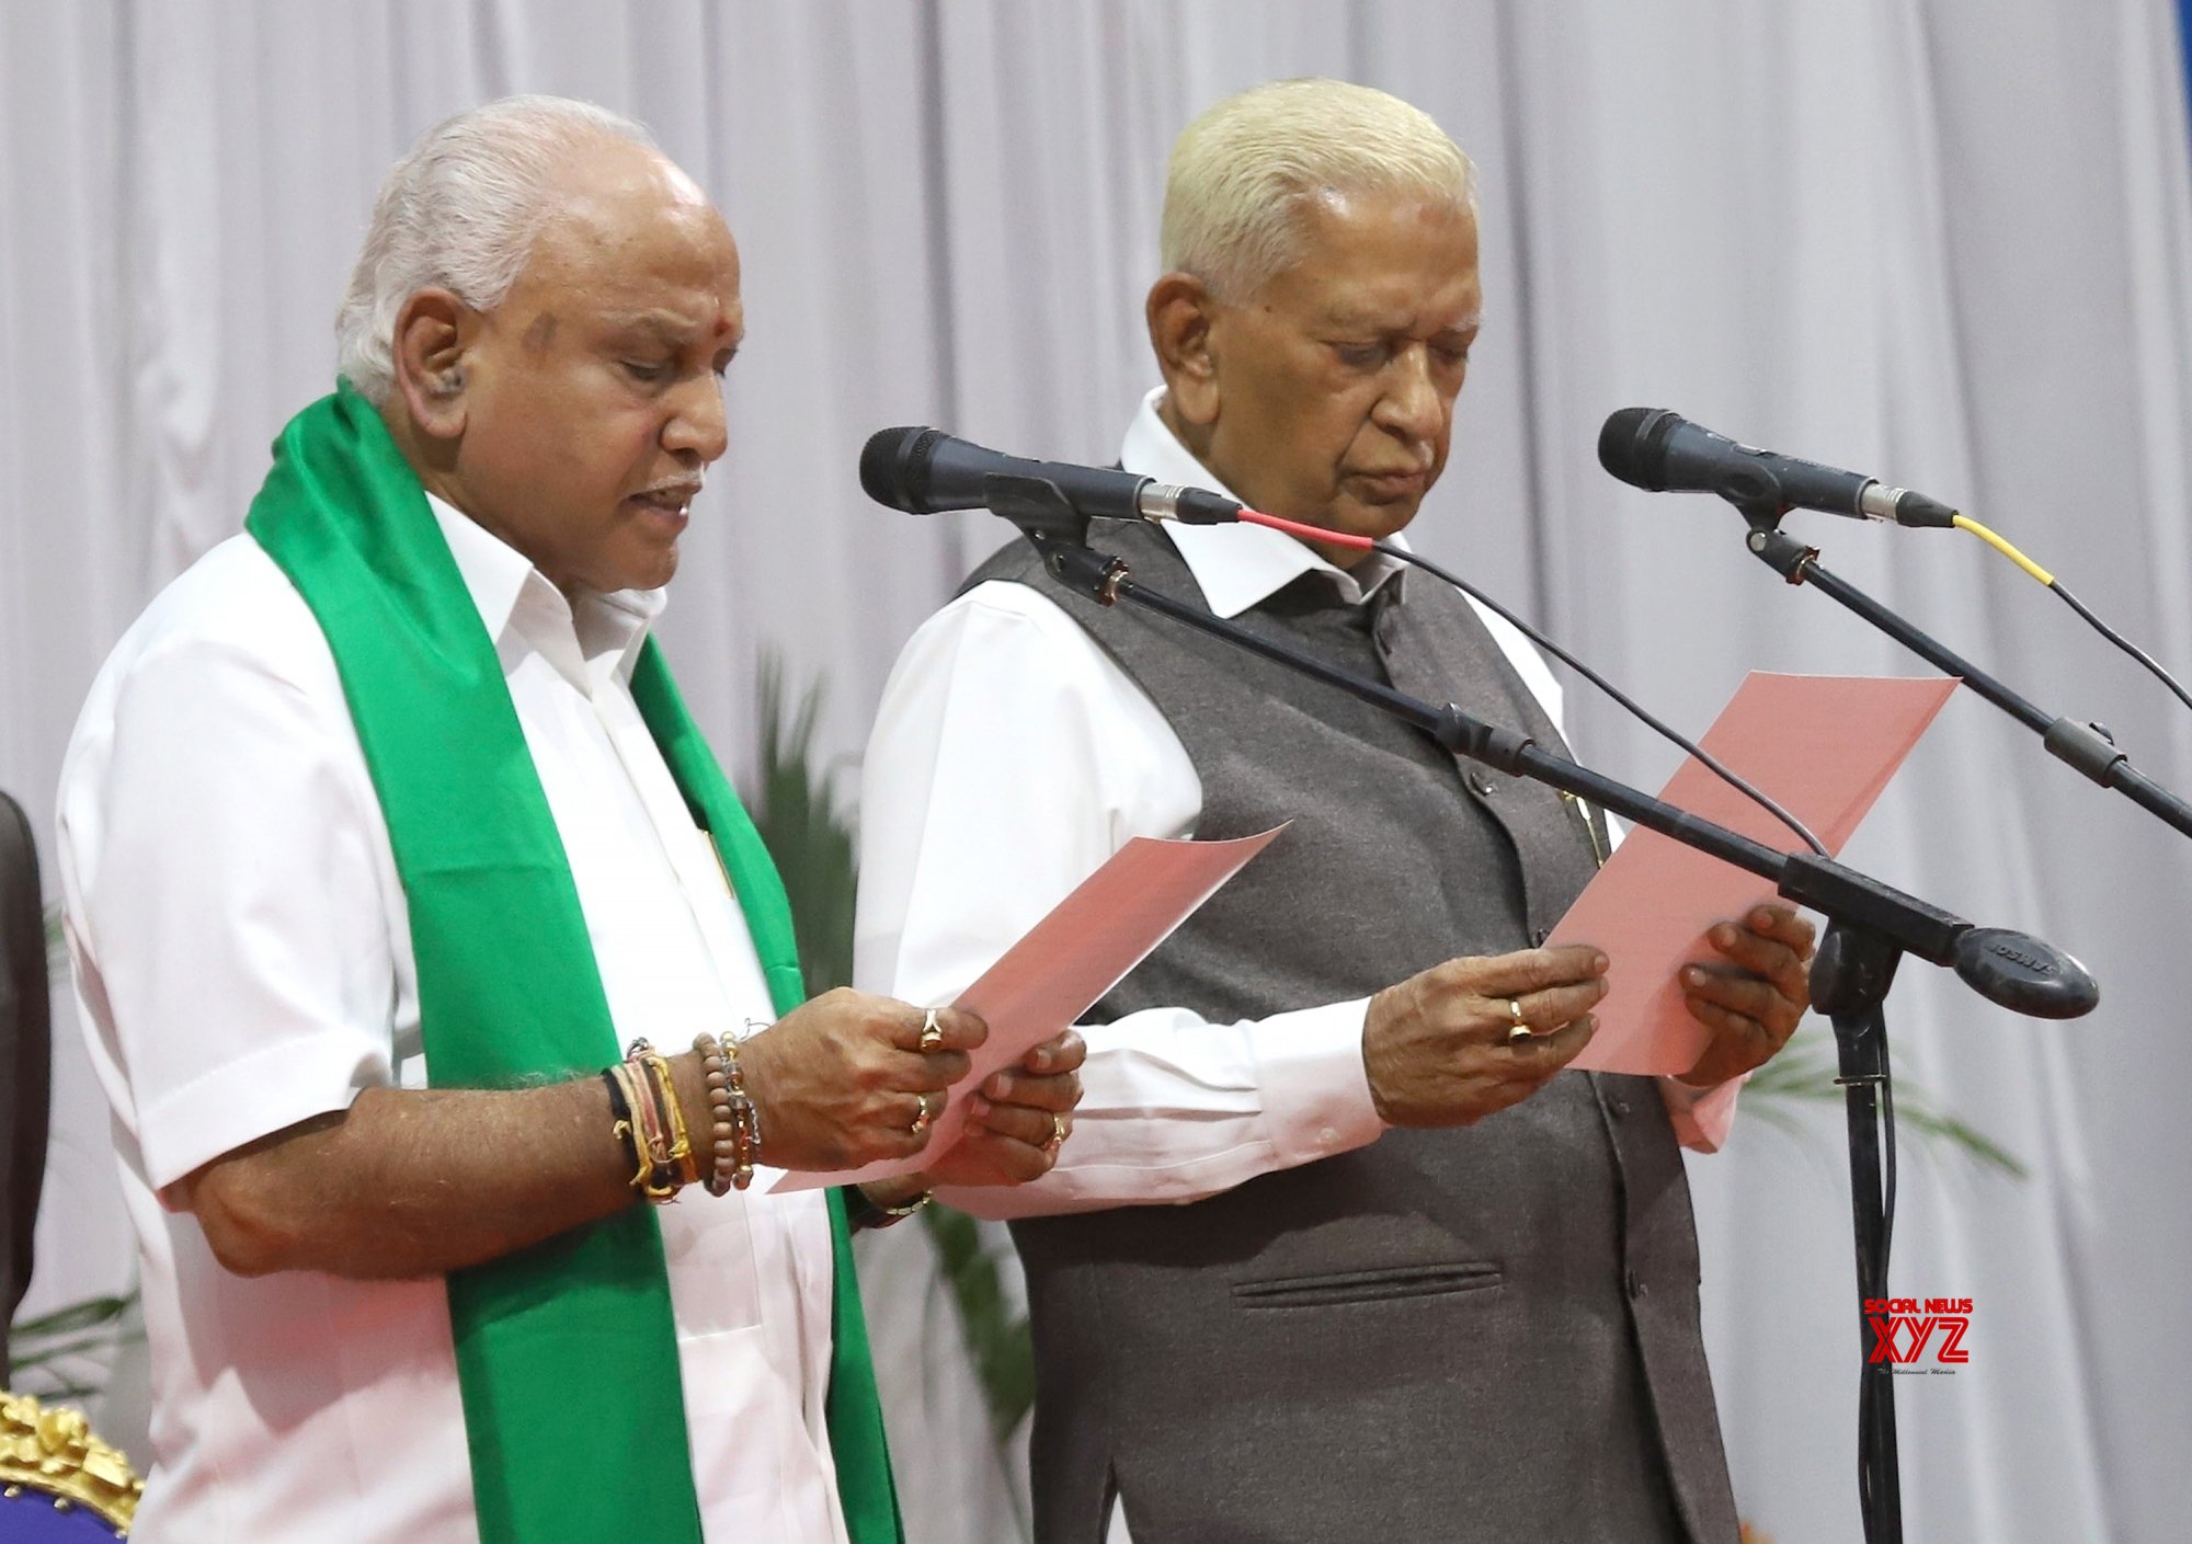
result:
[[(1370, 1099), (1388, 1125), (1473, 1125), (1567, 1066), (1602, 996), (1607, 956), (1587, 943), (1434, 965), (1370, 998)], [(1528, 1037), (1512, 1037), (1510, 1002)]]

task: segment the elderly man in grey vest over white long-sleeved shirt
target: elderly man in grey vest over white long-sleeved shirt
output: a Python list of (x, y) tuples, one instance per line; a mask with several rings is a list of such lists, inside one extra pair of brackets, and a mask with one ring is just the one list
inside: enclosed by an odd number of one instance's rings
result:
[[(1337, 81), (1228, 99), (1173, 151), (1146, 303), (1164, 386), (1120, 465), (1396, 540), (1482, 309), (1473, 178)], [(1138, 579), (1559, 743), (1497, 616), (1271, 529), (1105, 526)], [(1811, 926), (1683, 972), (1683, 1079), (1563, 1075), (1607, 958), (1543, 947), (1596, 814), (1024, 548), (907, 643), (870, 737), (855, 978), (945, 1000), (1135, 836), (1291, 820), (1098, 1004), (1076, 1134), (1017, 1191), (1039, 1544), (1732, 1544), (1679, 1143), (1804, 1011)]]

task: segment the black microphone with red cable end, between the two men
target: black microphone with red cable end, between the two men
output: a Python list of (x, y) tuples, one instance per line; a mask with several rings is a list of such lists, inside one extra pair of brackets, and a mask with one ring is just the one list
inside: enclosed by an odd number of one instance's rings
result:
[[(997, 478), (1006, 485), (997, 487)], [(859, 485), (868, 498), (910, 515), (993, 509), (993, 498), (1011, 496), (1013, 478), (1050, 483), (1074, 511), (1098, 520), (1179, 520), (1190, 526), (1217, 526), (1241, 518), (1241, 504), (1223, 493), (1157, 483), (1118, 467), (1024, 461), (982, 450), (943, 430), (877, 430), (859, 452)]]

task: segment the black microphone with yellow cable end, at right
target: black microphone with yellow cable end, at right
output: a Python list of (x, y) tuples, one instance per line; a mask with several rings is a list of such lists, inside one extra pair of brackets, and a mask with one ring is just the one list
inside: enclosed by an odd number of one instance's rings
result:
[(1651, 493), (1719, 493), (1729, 504), (1819, 509), (1898, 526), (1953, 526), (1955, 511), (1925, 493), (1885, 487), (1817, 461), (1738, 445), (1666, 408), (1622, 408), (1598, 430), (1598, 465)]

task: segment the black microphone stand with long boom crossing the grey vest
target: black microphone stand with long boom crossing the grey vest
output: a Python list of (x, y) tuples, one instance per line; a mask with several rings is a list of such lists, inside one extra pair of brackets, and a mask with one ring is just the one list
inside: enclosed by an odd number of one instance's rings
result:
[(1285, 669), (1352, 693), (1405, 724), (1414, 724), (1449, 752), (1545, 783), (1686, 847), (1771, 879), (1776, 890), (1828, 917), (1826, 939), (1813, 961), (1813, 1000), (1828, 1011), (1841, 1051), (1850, 1119), (1850, 1191), (1857, 1239), (1857, 1325), (1865, 1349), (1859, 1384), (1859, 1509), (1868, 1544), (1900, 1544), (1903, 1491), (1896, 1458), (1894, 1366), (1887, 1347), (1874, 1360), (1865, 1329), (1868, 1298), (1887, 1296), (1890, 1193), (1883, 1189), (1879, 1090), (1887, 1079), (1887, 1018), (1883, 1002), (1903, 954), (1951, 965), (1988, 1000), (2034, 1018), (2078, 1018), (2100, 1000), (2100, 987), (2078, 961), (2025, 934), (1977, 928), (1953, 912), (1813, 853), (1780, 853), (1762, 842), (1699, 820), (1675, 805), (1642, 794), (1541, 750), (1528, 735), (1469, 717), (1451, 702), (1436, 706), (1355, 676), (1311, 654), (1260, 638), (1160, 590), (1135, 583), (1127, 564), (1089, 550), (1087, 515), (1043, 478), (986, 478), (991, 511), (1011, 520), (1043, 555), (1043, 566), (1068, 590), (1098, 605), (1127, 601), (1186, 627), (1258, 654)]

